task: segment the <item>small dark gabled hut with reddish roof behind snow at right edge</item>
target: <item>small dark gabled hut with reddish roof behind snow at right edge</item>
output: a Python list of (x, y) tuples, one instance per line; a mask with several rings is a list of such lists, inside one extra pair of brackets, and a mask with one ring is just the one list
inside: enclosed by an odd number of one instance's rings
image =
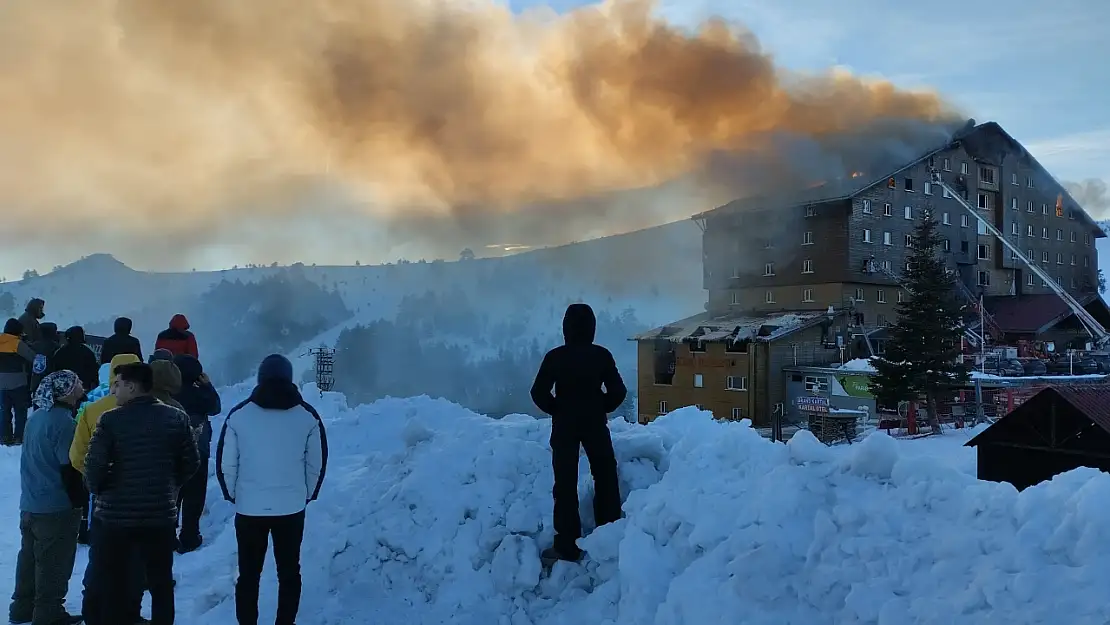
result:
[(966, 445), (980, 480), (1019, 491), (1080, 466), (1110, 473), (1110, 384), (1045, 387)]

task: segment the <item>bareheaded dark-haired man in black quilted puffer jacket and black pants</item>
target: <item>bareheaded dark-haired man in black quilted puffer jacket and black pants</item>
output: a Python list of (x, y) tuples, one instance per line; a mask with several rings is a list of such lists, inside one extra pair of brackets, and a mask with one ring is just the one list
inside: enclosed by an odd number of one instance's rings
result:
[[(151, 596), (151, 623), (170, 625), (178, 491), (200, 465), (196, 441), (180, 410), (151, 392), (145, 363), (115, 367), (112, 393), (119, 406), (100, 417), (85, 455), (84, 478), (95, 495), (93, 575), (101, 578), (100, 615), (85, 619), (127, 625), (134, 618), (134, 566), (140, 562)], [(138, 554), (138, 558), (135, 556)]]

